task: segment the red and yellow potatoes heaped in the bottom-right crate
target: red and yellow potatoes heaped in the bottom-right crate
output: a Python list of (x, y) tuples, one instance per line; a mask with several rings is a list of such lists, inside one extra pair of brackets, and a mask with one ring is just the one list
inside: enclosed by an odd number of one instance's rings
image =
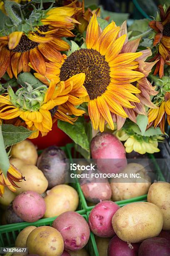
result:
[(100, 256), (170, 255), (170, 183), (155, 182), (147, 202), (119, 207), (112, 201), (95, 205), (89, 215)]

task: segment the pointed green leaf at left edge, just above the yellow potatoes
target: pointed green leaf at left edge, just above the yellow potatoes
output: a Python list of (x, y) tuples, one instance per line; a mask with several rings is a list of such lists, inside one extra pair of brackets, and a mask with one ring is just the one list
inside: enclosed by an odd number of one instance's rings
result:
[(9, 124), (2, 124), (2, 135), (4, 139), (5, 148), (12, 146), (20, 141), (24, 141), (32, 134), (32, 131), (23, 126), (14, 126)]

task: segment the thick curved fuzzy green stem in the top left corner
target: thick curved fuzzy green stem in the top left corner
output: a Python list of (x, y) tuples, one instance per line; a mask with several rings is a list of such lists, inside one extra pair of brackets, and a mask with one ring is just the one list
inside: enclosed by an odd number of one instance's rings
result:
[(15, 10), (18, 10), (18, 12), (20, 12), (20, 4), (15, 3), (13, 1), (6, 0), (5, 10), (10, 20), (13, 22), (13, 24), (18, 25), (22, 22), (22, 19), (19, 17), (18, 13), (15, 11)]

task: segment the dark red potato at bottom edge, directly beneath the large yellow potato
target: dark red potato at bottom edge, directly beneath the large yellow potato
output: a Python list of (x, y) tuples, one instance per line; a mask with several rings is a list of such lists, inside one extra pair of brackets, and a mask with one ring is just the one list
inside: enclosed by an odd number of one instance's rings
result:
[(109, 243), (107, 256), (138, 256), (140, 243), (127, 243), (114, 236)]

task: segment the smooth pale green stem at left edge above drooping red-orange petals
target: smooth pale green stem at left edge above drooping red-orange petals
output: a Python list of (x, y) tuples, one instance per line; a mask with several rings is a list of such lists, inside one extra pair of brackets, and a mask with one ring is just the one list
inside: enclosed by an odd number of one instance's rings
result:
[(7, 170), (9, 169), (9, 167), (10, 161), (8, 159), (7, 152), (4, 146), (4, 140), (2, 136), (2, 125), (0, 125), (0, 169), (5, 175), (5, 177), (7, 177)]

